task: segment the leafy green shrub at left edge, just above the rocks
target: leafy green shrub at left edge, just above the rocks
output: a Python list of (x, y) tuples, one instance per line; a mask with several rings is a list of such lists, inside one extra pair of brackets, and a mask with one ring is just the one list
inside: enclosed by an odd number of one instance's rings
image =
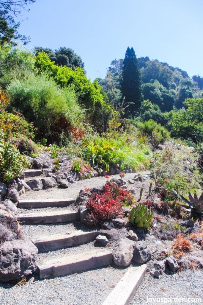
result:
[(0, 179), (8, 182), (16, 178), (30, 162), (25, 155), (21, 155), (15, 145), (4, 140), (4, 134), (0, 132)]

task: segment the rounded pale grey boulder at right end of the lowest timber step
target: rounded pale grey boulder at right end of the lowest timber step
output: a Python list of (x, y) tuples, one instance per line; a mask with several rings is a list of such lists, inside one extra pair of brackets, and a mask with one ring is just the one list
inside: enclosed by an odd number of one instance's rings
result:
[(121, 267), (130, 265), (133, 257), (133, 246), (128, 238), (120, 240), (115, 253), (113, 254), (114, 264)]

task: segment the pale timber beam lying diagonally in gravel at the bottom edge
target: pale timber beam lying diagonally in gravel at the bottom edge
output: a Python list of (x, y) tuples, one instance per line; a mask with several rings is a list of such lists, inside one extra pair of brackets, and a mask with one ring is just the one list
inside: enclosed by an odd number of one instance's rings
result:
[(107, 296), (102, 305), (128, 305), (135, 296), (147, 270), (147, 264), (129, 267), (120, 282)]

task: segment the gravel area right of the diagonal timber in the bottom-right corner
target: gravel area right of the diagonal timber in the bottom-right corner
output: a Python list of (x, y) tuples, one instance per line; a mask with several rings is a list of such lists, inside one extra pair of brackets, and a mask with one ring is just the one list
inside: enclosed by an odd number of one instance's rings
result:
[[(201, 301), (195, 302), (169, 300), (169, 298), (201, 298)], [(151, 300), (150, 298), (158, 298)], [(167, 302), (161, 302), (159, 298), (168, 299)], [(153, 278), (149, 272), (146, 272), (145, 278), (139, 286), (133, 301), (130, 305), (146, 304), (203, 304), (203, 271), (185, 270), (173, 274), (163, 274), (158, 279)]]

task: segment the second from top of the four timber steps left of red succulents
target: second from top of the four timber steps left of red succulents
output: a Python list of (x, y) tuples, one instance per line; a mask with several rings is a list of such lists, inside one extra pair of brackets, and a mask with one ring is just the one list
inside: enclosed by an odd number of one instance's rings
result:
[(78, 212), (71, 211), (45, 211), (38, 213), (20, 214), (17, 219), (23, 224), (52, 224), (57, 222), (68, 222), (79, 220)]

